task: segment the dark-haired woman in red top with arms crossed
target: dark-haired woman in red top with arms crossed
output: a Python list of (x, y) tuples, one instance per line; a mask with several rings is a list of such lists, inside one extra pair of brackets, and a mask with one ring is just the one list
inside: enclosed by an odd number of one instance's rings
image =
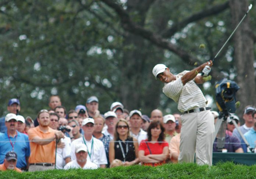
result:
[(169, 155), (169, 145), (164, 141), (164, 127), (159, 121), (150, 123), (147, 139), (139, 146), (139, 160), (143, 165), (157, 166), (165, 163)]

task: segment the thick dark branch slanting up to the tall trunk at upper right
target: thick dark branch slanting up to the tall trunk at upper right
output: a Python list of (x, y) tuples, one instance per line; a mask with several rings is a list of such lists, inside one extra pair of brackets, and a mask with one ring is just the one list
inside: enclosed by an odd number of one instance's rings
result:
[(189, 23), (199, 21), (200, 19), (209, 17), (211, 15), (218, 14), (218, 13), (224, 11), (225, 9), (227, 9), (228, 7), (229, 7), (229, 1), (227, 1), (223, 4), (218, 4), (216, 6), (208, 8), (206, 10), (200, 11), (200, 12), (193, 14), (190, 17), (184, 19), (183, 21), (181, 21), (177, 24), (174, 24), (171, 28), (166, 29), (161, 34), (164, 38), (171, 37), (174, 35), (174, 33), (179, 31), (180, 29), (184, 28)]

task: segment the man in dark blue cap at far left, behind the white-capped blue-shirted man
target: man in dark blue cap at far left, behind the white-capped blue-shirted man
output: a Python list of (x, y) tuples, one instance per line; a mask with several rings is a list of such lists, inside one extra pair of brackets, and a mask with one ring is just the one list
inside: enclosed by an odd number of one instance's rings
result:
[[(16, 98), (10, 99), (8, 102), (7, 110), (10, 113), (17, 114), (17, 110), (18, 111), (21, 110), (19, 100)], [(5, 118), (5, 116), (0, 118), (0, 132), (3, 132), (3, 133), (6, 132), (6, 130), (7, 130), (7, 128), (5, 126), (4, 118)]]

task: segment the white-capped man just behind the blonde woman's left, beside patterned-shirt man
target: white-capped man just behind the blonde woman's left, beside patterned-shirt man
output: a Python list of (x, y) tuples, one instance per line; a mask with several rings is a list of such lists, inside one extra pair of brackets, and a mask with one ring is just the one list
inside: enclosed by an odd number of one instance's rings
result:
[(114, 138), (115, 125), (117, 124), (117, 115), (113, 111), (108, 111), (104, 114), (104, 118), (107, 129), (103, 129), (102, 133), (112, 140)]

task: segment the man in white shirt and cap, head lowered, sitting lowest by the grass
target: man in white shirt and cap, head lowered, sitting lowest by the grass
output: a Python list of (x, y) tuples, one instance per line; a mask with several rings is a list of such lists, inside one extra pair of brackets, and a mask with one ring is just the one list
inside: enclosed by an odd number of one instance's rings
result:
[(75, 146), (76, 160), (73, 160), (67, 163), (64, 166), (64, 169), (70, 169), (70, 168), (97, 169), (98, 166), (95, 163), (86, 159), (87, 155), (88, 155), (88, 151), (87, 151), (86, 145), (83, 143), (78, 143)]

